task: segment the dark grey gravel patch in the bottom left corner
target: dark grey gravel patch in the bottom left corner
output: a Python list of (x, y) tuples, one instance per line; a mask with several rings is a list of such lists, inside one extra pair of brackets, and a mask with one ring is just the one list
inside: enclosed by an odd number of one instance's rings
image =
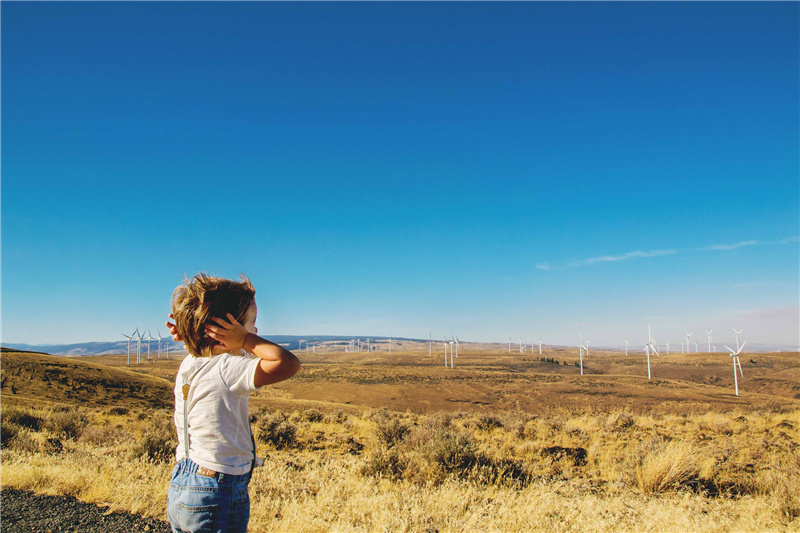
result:
[(130, 513), (106, 515), (106, 509), (72, 496), (44, 496), (16, 489), (0, 491), (3, 533), (170, 533), (165, 521)]

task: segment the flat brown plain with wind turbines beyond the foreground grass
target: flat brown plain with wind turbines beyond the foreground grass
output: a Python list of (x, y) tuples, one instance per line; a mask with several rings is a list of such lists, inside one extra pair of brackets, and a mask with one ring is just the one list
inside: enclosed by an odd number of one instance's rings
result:
[[(790, 406), (800, 396), (795, 353), (745, 354), (740, 394), (733, 390), (730, 357), (672, 354), (651, 361), (647, 379), (643, 356), (593, 351), (585, 375), (574, 350), (512, 354), (464, 345), (456, 368), (444, 368), (443, 353), (395, 350), (372, 353), (297, 352), (303, 363), (293, 379), (251, 396), (254, 409), (271, 405), (357, 410), (385, 407), (416, 413), (522, 410), (544, 414), (561, 409), (649, 412), (730, 411)], [(85, 358), (84, 358), (85, 359)], [(180, 357), (127, 367), (125, 356), (93, 360), (173, 381)]]

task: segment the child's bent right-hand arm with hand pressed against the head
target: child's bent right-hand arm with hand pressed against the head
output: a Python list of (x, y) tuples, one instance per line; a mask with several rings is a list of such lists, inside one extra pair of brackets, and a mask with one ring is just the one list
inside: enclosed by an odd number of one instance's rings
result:
[(228, 313), (229, 322), (222, 318), (213, 320), (219, 325), (206, 326), (206, 333), (217, 341), (221, 348), (225, 351), (243, 349), (261, 359), (254, 378), (256, 387), (287, 380), (300, 370), (300, 361), (292, 352), (255, 333), (250, 333), (232, 314)]

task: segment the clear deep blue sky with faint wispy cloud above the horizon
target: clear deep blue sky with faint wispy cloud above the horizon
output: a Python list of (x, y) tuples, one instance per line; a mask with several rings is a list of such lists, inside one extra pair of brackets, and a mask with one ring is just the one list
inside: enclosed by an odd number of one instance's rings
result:
[[(3, 2), (5, 342), (800, 346), (797, 2)], [(719, 347), (722, 350), (722, 347)]]

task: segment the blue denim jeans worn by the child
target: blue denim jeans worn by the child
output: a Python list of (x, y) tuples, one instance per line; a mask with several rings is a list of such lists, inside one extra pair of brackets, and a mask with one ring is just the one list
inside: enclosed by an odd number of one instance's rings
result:
[(251, 472), (201, 476), (197, 463), (182, 459), (172, 470), (167, 492), (167, 518), (173, 533), (247, 533)]

